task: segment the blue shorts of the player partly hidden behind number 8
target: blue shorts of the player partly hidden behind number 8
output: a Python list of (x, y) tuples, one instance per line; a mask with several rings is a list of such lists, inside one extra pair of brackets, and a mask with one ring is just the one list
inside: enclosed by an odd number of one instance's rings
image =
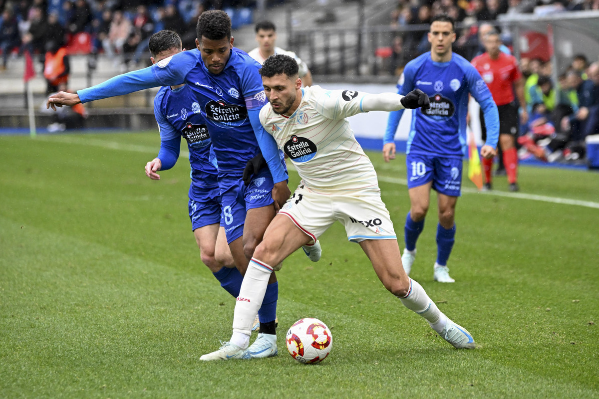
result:
[[(192, 231), (209, 224), (222, 223), (220, 188), (189, 187), (189, 219)], [(221, 224), (222, 226), (222, 224)]]

